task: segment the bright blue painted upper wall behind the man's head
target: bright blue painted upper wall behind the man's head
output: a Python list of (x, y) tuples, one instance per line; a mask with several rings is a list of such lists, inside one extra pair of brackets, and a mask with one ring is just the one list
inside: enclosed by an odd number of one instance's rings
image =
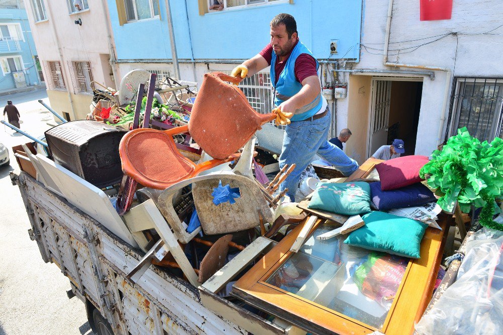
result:
[[(300, 40), (316, 58), (330, 56), (330, 40), (338, 42), (331, 59), (359, 59), (361, 0), (295, 0), (199, 15), (195, 0), (171, 0), (175, 40), (180, 59), (244, 59), (270, 41), (269, 22), (279, 13), (297, 21)], [(118, 59), (171, 59), (164, 0), (161, 19), (119, 25), (115, 0), (108, 0)], [(189, 34), (190, 31), (190, 34)], [(192, 43), (191, 43), (192, 41)], [(192, 48), (191, 48), (192, 44)]]

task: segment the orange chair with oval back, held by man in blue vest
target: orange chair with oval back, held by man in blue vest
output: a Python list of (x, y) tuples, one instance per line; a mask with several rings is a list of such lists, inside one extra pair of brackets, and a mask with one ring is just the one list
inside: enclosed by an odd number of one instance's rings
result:
[[(124, 174), (143, 186), (163, 190), (238, 158), (235, 152), (262, 124), (274, 120), (276, 113), (257, 113), (238, 88), (222, 80), (238, 83), (242, 79), (221, 72), (205, 74), (188, 126), (128, 132), (119, 145)], [(187, 131), (215, 159), (195, 164), (184, 157), (173, 135)]]

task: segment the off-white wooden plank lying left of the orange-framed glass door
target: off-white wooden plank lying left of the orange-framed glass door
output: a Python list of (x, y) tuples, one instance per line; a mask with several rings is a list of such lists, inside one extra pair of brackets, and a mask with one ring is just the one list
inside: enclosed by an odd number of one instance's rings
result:
[(272, 240), (265, 237), (257, 238), (201, 286), (210, 292), (217, 293), (255, 260), (272, 242)]

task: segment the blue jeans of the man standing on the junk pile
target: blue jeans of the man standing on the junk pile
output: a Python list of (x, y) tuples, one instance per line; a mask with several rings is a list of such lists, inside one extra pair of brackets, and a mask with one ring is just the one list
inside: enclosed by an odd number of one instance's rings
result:
[(287, 195), (291, 201), (295, 201), (295, 192), (299, 184), (300, 174), (314, 160), (316, 153), (345, 176), (351, 175), (358, 169), (356, 160), (351, 159), (339, 147), (328, 142), (330, 114), (330, 110), (328, 110), (325, 116), (317, 120), (293, 121), (286, 126), (283, 148), (279, 159), (280, 169), (285, 164), (295, 163), (296, 166), (294, 171), (280, 185), (280, 191), (288, 188)]

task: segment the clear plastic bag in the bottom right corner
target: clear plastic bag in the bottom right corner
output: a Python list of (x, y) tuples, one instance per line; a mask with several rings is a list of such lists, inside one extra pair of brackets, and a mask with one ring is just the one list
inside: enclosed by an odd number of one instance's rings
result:
[(503, 232), (483, 228), (466, 243), (456, 282), (415, 325), (420, 334), (503, 333)]

